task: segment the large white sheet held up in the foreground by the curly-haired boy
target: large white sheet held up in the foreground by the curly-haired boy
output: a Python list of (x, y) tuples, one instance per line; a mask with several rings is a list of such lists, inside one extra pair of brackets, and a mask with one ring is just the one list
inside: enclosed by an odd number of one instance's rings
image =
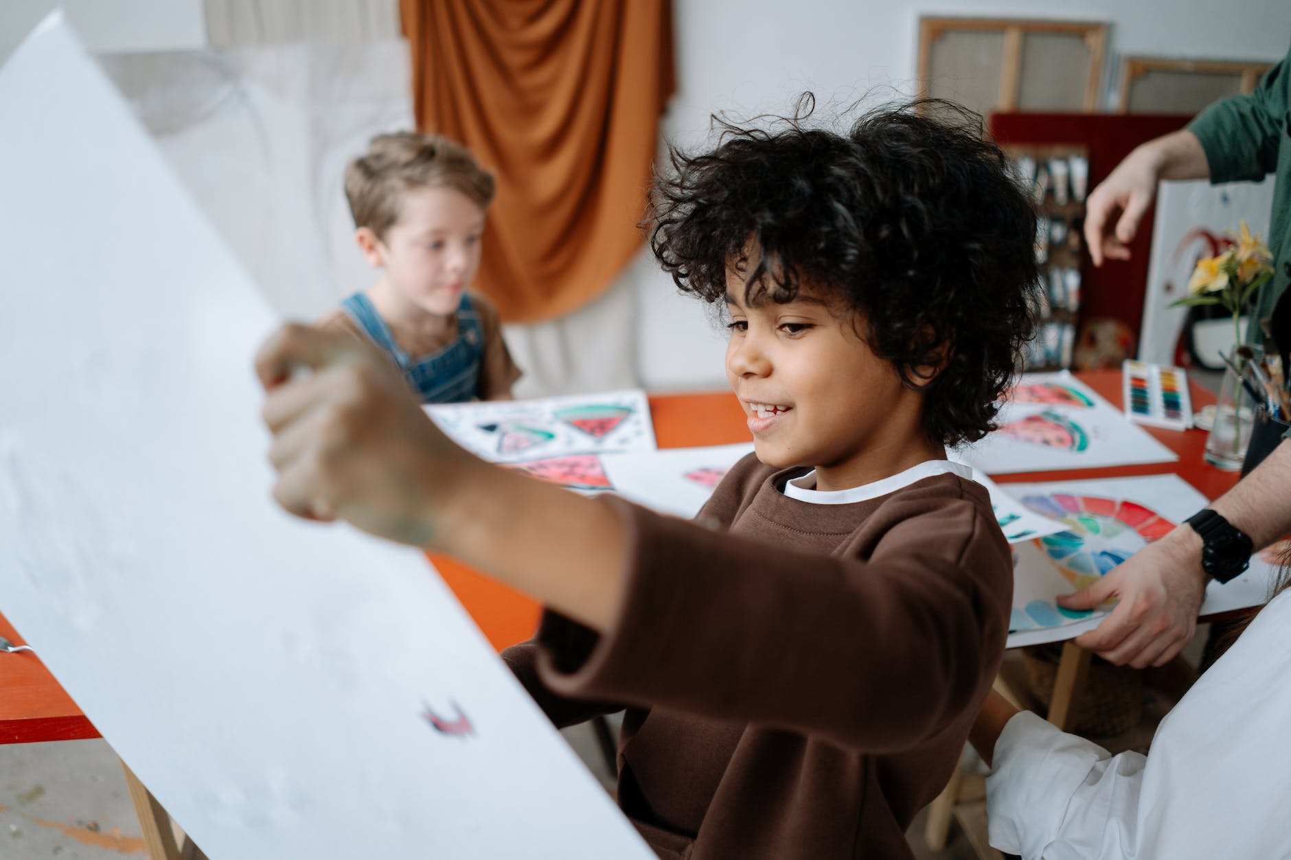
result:
[(198, 845), (653, 857), (421, 554), (272, 505), (272, 314), (59, 17), (0, 116), (0, 608)]

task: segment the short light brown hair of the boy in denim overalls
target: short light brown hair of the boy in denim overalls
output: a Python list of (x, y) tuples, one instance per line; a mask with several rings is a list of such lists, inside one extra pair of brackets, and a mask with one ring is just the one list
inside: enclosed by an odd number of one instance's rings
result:
[(439, 134), (378, 134), (345, 168), (354, 226), (368, 227), (378, 239), (399, 220), (404, 194), (435, 187), (456, 189), (482, 209), (493, 200), (493, 174), (465, 146)]

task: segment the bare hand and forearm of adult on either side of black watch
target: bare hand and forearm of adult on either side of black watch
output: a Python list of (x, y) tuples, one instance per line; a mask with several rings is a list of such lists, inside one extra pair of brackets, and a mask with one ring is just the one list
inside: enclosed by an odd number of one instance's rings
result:
[[(1235, 487), (1210, 507), (1246, 532), (1256, 549), (1291, 531), (1291, 439), (1285, 439)], [(1075, 644), (1114, 664), (1135, 668), (1168, 662), (1188, 644), (1206, 591), (1201, 566), (1202, 538), (1190, 526), (1177, 526), (1113, 568), (1097, 582), (1059, 603), (1092, 609), (1119, 600), (1097, 628)]]

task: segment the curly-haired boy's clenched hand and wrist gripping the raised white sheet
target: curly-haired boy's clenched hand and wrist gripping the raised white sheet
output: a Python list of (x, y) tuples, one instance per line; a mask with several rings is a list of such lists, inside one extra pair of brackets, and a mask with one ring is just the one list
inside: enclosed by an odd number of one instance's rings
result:
[(256, 371), (283, 507), (436, 544), (453, 488), (483, 464), (435, 427), (385, 356), (345, 333), (287, 324), (261, 347)]

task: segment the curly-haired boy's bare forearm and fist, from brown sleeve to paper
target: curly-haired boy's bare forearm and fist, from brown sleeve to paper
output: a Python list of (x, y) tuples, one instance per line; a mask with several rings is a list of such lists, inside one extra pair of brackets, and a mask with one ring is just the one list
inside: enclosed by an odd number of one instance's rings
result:
[(624, 527), (609, 507), (463, 451), (398, 369), (352, 337), (283, 325), (256, 372), (284, 509), (454, 555), (608, 629), (625, 578)]

